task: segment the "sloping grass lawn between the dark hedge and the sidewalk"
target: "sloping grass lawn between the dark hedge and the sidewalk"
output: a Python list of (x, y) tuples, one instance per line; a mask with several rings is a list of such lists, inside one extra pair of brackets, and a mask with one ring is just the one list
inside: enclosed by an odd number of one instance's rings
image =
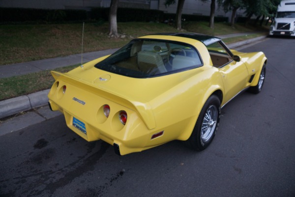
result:
[[(81, 53), (83, 24), (50, 25), (1, 25), (1, 65), (33, 60), (62, 57)], [(186, 22), (184, 32), (221, 35), (228, 33), (253, 32), (256, 29), (228, 23), (215, 23), (210, 29), (207, 22)], [(108, 23), (86, 23), (84, 28), (84, 52), (118, 48), (130, 39), (150, 33), (177, 32), (172, 26), (162, 23), (118, 23), (118, 32), (125, 38), (109, 38)], [(179, 31), (178, 31), (179, 32)]]

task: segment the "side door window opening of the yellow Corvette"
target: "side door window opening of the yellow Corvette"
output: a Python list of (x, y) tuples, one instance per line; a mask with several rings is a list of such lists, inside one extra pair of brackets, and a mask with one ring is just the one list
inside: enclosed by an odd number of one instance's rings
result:
[(213, 66), (221, 67), (232, 61), (227, 50), (219, 43), (214, 42), (207, 46)]

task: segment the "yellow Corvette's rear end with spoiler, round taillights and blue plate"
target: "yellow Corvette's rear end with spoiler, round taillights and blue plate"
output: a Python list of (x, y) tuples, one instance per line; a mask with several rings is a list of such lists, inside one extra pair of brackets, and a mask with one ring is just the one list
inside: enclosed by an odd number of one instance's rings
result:
[(107, 86), (98, 82), (92, 84), (58, 72), (53, 75), (56, 82), (48, 94), (49, 105), (64, 114), (72, 131), (87, 141), (102, 139), (114, 145), (120, 155), (147, 146), (150, 130), (129, 100), (104, 90)]

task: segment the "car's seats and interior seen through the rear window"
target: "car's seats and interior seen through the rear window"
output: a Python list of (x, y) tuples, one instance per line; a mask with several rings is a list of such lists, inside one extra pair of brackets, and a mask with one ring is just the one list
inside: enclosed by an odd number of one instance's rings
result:
[(196, 50), (186, 45), (140, 40), (134, 42), (129, 50), (130, 56), (116, 65), (148, 75), (202, 65)]

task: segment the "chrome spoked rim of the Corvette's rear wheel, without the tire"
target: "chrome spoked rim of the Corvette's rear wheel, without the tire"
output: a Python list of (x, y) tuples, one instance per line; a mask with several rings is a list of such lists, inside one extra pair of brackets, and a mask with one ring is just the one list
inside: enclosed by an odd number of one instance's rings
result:
[(201, 128), (201, 138), (203, 142), (209, 140), (215, 132), (218, 117), (218, 109), (215, 105), (210, 105), (204, 116)]

